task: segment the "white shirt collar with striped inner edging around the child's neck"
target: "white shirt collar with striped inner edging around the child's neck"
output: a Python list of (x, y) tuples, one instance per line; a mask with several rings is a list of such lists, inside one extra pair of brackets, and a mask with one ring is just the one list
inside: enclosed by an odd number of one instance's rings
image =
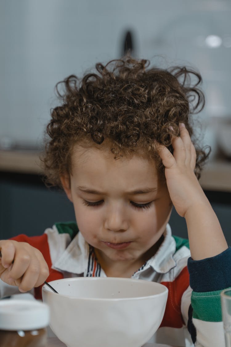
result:
[[(136, 277), (149, 268), (158, 273), (167, 273), (176, 266), (176, 262), (173, 259), (173, 255), (176, 252), (176, 242), (171, 235), (169, 224), (166, 226), (163, 235), (164, 240), (157, 253), (134, 273)], [(53, 268), (62, 272), (72, 273), (73, 275), (106, 277), (104, 270), (101, 269), (100, 264), (97, 262), (94, 248), (89, 246), (80, 231), (66, 247), (59, 259), (54, 262)]]

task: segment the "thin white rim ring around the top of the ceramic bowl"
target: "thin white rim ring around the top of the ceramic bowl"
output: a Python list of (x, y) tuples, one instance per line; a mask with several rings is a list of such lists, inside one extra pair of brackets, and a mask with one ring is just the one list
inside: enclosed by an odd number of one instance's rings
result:
[[(68, 299), (75, 299), (75, 300), (81, 300), (81, 301), (132, 301), (132, 300), (147, 300), (150, 298), (153, 298), (155, 296), (165, 296), (166, 293), (168, 294), (168, 288), (163, 285), (162, 283), (159, 282), (154, 282), (154, 281), (148, 281), (148, 280), (141, 280), (141, 279), (133, 279), (133, 278), (124, 278), (124, 277), (71, 277), (71, 278), (61, 278), (58, 280), (53, 280), (53, 281), (49, 281), (48, 283), (52, 285), (53, 282), (56, 281), (76, 281), (76, 280), (116, 280), (116, 281), (132, 281), (132, 282), (143, 282), (143, 283), (149, 283), (150, 285), (155, 284), (158, 286), (163, 287), (163, 291), (161, 293), (158, 294), (152, 294), (152, 295), (145, 295), (145, 296), (135, 296), (135, 297), (126, 297), (126, 298), (87, 298), (87, 297), (75, 297), (75, 296), (71, 296), (71, 295), (65, 295), (65, 294), (59, 294), (59, 293), (54, 293), (49, 287), (45, 286), (45, 283), (42, 287), (42, 295), (43, 292), (45, 292), (47, 295), (59, 295), (61, 297), (65, 297)], [(152, 283), (152, 284), (151, 284)], [(57, 289), (57, 288), (55, 288)], [(57, 289), (58, 290), (58, 289)]]

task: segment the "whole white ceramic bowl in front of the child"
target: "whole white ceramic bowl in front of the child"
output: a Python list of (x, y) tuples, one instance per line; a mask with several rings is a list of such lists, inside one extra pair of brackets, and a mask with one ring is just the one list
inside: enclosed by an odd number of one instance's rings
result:
[(43, 301), (50, 327), (68, 347), (140, 347), (159, 328), (168, 289), (129, 278), (79, 277), (50, 282)]

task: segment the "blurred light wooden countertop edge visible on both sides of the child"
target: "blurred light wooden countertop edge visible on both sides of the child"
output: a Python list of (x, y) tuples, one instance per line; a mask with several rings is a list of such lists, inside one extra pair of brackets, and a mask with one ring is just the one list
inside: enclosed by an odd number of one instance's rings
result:
[[(39, 175), (39, 151), (0, 151), (0, 171)], [(213, 160), (205, 165), (200, 183), (203, 189), (231, 192), (231, 161)]]

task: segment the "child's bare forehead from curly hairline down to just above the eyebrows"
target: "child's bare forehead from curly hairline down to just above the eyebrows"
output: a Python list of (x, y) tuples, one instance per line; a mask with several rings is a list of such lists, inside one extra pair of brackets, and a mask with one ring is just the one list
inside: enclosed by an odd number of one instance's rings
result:
[[(139, 152), (121, 155), (118, 159), (107, 146), (82, 146), (76, 144), (72, 149), (71, 176), (81, 179), (88, 177), (90, 180), (107, 180), (118, 176), (125, 181), (139, 184), (143, 181), (162, 181), (162, 176), (157, 169), (154, 159), (141, 155)], [(101, 177), (101, 178), (100, 178)]]

